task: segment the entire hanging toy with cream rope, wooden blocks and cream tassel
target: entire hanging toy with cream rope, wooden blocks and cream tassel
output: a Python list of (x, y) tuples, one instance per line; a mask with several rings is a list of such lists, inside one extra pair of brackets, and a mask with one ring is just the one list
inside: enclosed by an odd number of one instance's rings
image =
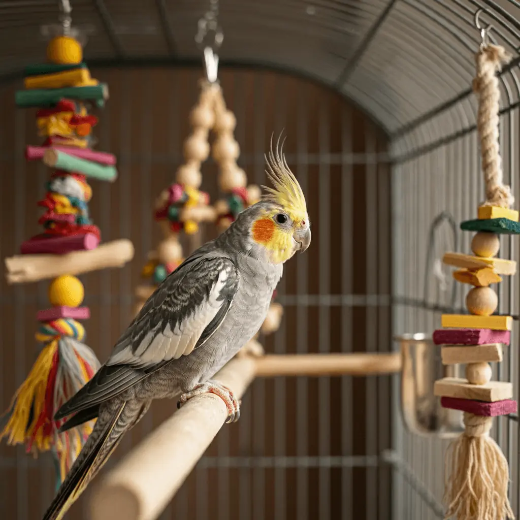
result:
[[(508, 498), (509, 467), (500, 447), (490, 437), (492, 418), (514, 413), (516, 401), (509, 382), (490, 381), (490, 361), (502, 360), (502, 344), (509, 344), (511, 316), (494, 315), (498, 297), (489, 284), (499, 275), (514, 275), (516, 263), (496, 258), (499, 235), (520, 233), (518, 212), (509, 209), (514, 199), (503, 184), (498, 123), (500, 90), (497, 71), (510, 59), (508, 53), (488, 42), (490, 27), (481, 29), (480, 10), (475, 15), (482, 45), (476, 55), (473, 89), (478, 98), (477, 129), (482, 154), (486, 201), (478, 218), (461, 223), (461, 229), (476, 231), (474, 256), (446, 253), (443, 262), (459, 269), (453, 277), (473, 288), (467, 293), (469, 315), (443, 315), (442, 330), (433, 340), (441, 347), (443, 363), (466, 364), (466, 379), (445, 378), (435, 382), (434, 393), (444, 408), (463, 411), (464, 433), (453, 440), (446, 453), (445, 518), (496, 520), (514, 518)], [(454, 345), (466, 345), (455, 349)]]

